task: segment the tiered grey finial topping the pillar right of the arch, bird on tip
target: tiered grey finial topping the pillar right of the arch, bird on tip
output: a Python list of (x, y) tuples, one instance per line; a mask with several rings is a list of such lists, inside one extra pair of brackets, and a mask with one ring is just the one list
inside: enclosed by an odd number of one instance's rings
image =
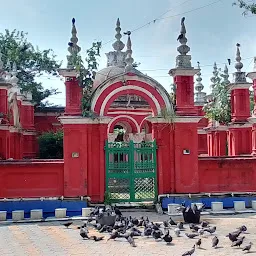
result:
[(181, 19), (181, 29), (180, 35), (178, 36), (177, 40), (180, 42), (180, 46), (178, 46), (177, 50), (180, 55), (176, 58), (176, 67), (179, 68), (191, 68), (191, 56), (187, 55), (190, 51), (190, 47), (187, 46), (187, 38), (186, 38), (186, 27), (185, 27), (185, 17)]

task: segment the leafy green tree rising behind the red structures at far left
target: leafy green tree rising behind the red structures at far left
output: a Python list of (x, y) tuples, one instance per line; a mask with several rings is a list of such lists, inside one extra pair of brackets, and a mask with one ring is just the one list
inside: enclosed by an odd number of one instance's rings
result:
[[(32, 93), (36, 105), (44, 106), (43, 99), (58, 93), (57, 89), (44, 89), (42, 83), (36, 81), (36, 77), (43, 74), (57, 75), (57, 69), (61, 63), (56, 61), (56, 56), (51, 49), (39, 50), (28, 42), (27, 33), (17, 30), (10, 32), (6, 29), (4, 33), (0, 33), (0, 52), (3, 54), (2, 59), (5, 65), (8, 61), (16, 62), (18, 85), (22, 91)], [(10, 70), (10, 67), (7, 65), (8, 69)]]

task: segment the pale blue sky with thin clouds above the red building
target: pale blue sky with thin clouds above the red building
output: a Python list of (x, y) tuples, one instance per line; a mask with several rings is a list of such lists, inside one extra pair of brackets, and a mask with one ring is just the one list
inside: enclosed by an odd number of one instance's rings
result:
[[(253, 70), (256, 56), (256, 15), (244, 17), (242, 10), (232, 6), (234, 0), (0, 0), (0, 32), (22, 30), (28, 40), (40, 49), (53, 49), (57, 59), (66, 65), (67, 43), (71, 37), (71, 19), (76, 19), (78, 45), (85, 56), (92, 42), (101, 41), (99, 70), (106, 67), (105, 53), (112, 51), (115, 23), (120, 18), (122, 32), (131, 30), (133, 58), (139, 70), (171, 91), (173, 82), (168, 71), (175, 67), (178, 55), (177, 37), (180, 19), (186, 17), (187, 45), (191, 48), (192, 64), (201, 64), (204, 91), (210, 92), (213, 63), (223, 69), (231, 59), (230, 80), (234, 69), (236, 43), (241, 44), (243, 71)], [(153, 22), (153, 20), (155, 20)], [(145, 25), (145, 26), (144, 26)], [(126, 37), (122, 37), (126, 43)], [(65, 105), (63, 79), (44, 76), (45, 88), (61, 92), (48, 98)]]

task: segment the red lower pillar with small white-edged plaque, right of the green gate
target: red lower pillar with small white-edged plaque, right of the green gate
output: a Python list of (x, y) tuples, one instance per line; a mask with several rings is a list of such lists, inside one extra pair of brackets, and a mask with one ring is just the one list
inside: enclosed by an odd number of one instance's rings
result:
[(198, 135), (200, 117), (175, 121), (175, 182), (177, 193), (198, 193)]

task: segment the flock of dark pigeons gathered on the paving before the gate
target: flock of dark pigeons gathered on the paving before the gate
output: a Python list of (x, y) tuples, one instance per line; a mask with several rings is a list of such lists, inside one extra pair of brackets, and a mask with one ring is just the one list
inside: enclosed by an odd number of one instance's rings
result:
[[(113, 226), (101, 225), (97, 221), (97, 217), (103, 215), (116, 215), (116, 221)], [(96, 219), (95, 219), (96, 217)], [(73, 222), (67, 222), (63, 225), (65, 227), (69, 227)], [(196, 248), (201, 248), (202, 245), (202, 237), (204, 234), (208, 233), (209, 235), (214, 235), (216, 232), (216, 226), (210, 226), (209, 222), (202, 221), (200, 224), (196, 225), (193, 223), (189, 224), (189, 232), (186, 232), (183, 222), (175, 223), (175, 221), (169, 217), (168, 221), (163, 221), (162, 223), (152, 222), (148, 219), (148, 217), (141, 217), (139, 219), (130, 217), (123, 217), (121, 211), (115, 206), (113, 209), (106, 209), (96, 207), (94, 211), (91, 213), (91, 217), (84, 222), (80, 229), (80, 236), (83, 239), (94, 240), (95, 242), (104, 240), (104, 236), (95, 236), (89, 235), (88, 226), (92, 226), (96, 229), (100, 234), (109, 233), (109, 238), (107, 240), (115, 240), (118, 238), (125, 238), (127, 242), (132, 247), (136, 247), (136, 243), (134, 237), (151, 237), (155, 241), (163, 241), (167, 245), (171, 244), (173, 241), (172, 236), (170, 235), (170, 229), (173, 229), (174, 235), (179, 237), (182, 233), (188, 239), (195, 239), (197, 241), (193, 245), (193, 247), (182, 254), (185, 255), (193, 255)], [(231, 232), (227, 235), (229, 240), (231, 241), (231, 247), (241, 247), (243, 244), (245, 236), (241, 235), (247, 231), (246, 226), (241, 226), (237, 228), (236, 231)], [(217, 249), (219, 244), (219, 238), (214, 235), (212, 238), (212, 247)], [(252, 242), (242, 248), (244, 252), (250, 252), (252, 247)]]

